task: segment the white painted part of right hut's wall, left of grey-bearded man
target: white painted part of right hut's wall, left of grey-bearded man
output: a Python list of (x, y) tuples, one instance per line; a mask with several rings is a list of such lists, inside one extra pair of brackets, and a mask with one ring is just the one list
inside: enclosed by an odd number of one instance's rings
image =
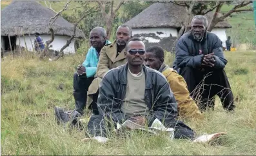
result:
[[(157, 34), (157, 32), (162, 32), (163, 34)], [(163, 37), (170, 37), (170, 34), (172, 34), (172, 37), (177, 37), (178, 32), (175, 28), (132, 28), (132, 34), (150, 34), (153, 33), (160, 38)], [(148, 40), (150, 43), (158, 43), (159, 39), (153, 39), (152, 37), (145, 37), (144, 39)]]

